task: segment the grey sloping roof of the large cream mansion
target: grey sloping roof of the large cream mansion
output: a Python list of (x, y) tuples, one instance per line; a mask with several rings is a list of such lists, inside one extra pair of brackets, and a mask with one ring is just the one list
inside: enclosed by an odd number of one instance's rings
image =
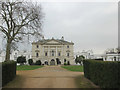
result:
[[(33, 42), (32, 44), (48, 44), (47, 42), (50, 42), (50, 41), (55, 41), (55, 42), (58, 42), (59, 44), (63, 44), (63, 45), (67, 45), (67, 44), (71, 44), (71, 45), (74, 45), (73, 42), (68, 42), (68, 41), (65, 41), (63, 39), (42, 39), (42, 40), (39, 40), (37, 42)], [(49, 44), (52, 44), (52, 43), (49, 43)]]

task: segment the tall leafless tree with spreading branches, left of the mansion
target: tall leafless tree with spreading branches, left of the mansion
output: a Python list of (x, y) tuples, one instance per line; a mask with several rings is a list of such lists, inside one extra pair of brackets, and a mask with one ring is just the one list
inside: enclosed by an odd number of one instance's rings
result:
[(6, 38), (6, 58), (10, 60), (12, 42), (24, 36), (41, 36), (43, 13), (41, 5), (22, 1), (0, 1), (0, 31)]

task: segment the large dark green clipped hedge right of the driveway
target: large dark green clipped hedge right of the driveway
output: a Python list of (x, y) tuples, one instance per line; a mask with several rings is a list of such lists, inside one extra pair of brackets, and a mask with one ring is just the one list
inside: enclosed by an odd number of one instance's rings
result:
[(120, 88), (120, 62), (84, 60), (84, 76), (101, 88)]

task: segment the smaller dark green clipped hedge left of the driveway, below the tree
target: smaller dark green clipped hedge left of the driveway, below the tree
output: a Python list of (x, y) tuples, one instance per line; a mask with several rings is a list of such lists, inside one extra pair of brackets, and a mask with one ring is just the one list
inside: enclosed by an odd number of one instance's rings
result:
[(16, 62), (7, 61), (2, 63), (2, 86), (13, 80), (16, 76)]

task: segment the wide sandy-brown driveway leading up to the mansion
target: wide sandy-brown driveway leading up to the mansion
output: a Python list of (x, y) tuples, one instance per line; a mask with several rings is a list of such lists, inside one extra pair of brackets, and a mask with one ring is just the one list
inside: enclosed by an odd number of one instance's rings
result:
[[(77, 88), (75, 78), (83, 72), (72, 72), (60, 66), (45, 66), (36, 70), (17, 71), (12, 88)], [(14, 85), (13, 85), (14, 84)]]

